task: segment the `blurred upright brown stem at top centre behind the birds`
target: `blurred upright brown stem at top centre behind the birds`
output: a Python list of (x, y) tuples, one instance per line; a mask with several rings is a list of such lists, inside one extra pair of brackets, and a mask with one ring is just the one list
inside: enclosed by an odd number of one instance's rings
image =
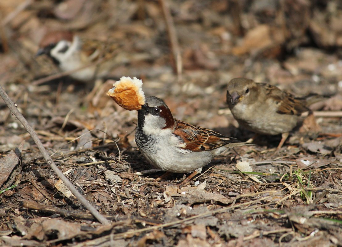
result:
[(175, 64), (175, 71), (177, 72), (177, 79), (178, 79), (178, 81), (181, 81), (182, 70), (183, 70), (182, 55), (181, 55), (181, 51), (179, 49), (177, 33), (176, 33), (176, 29), (174, 27), (170, 8), (169, 8), (169, 5), (167, 4), (166, 1), (167, 0), (159, 0), (159, 3), (161, 5), (161, 9), (163, 11), (163, 15), (165, 18), (166, 27), (168, 30), (170, 45), (171, 45), (171, 49), (172, 49), (172, 55), (173, 55), (174, 64)]

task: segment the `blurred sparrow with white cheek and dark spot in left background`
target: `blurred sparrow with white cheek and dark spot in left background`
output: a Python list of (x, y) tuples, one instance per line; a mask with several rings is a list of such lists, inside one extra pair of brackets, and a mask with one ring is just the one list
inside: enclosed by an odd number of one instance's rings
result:
[(116, 65), (128, 62), (127, 58), (116, 54), (117, 44), (82, 39), (68, 31), (48, 33), (41, 40), (39, 47), (37, 56), (48, 55), (62, 71), (93, 64), (69, 75), (83, 82), (103, 78)]

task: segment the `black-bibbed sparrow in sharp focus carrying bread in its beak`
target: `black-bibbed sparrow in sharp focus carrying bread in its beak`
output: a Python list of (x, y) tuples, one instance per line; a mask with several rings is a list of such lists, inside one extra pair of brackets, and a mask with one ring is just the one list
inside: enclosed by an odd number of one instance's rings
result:
[(228, 147), (254, 145), (174, 119), (161, 99), (149, 96), (138, 110), (135, 142), (145, 158), (167, 172), (194, 171), (187, 181), (202, 171)]

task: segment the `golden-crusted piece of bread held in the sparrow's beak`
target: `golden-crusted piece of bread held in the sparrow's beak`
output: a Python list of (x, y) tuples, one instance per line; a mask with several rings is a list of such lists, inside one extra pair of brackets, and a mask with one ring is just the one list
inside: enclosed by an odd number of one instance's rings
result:
[(119, 106), (126, 110), (140, 110), (145, 104), (145, 95), (142, 89), (143, 82), (136, 77), (121, 77), (113, 84), (107, 95), (110, 96)]

